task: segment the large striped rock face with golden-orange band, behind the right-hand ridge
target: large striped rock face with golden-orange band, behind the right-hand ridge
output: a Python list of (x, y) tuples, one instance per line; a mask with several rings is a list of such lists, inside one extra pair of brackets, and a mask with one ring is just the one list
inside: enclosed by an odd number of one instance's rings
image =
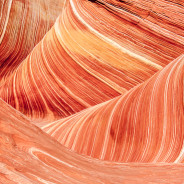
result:
[(175, 21), (182, 9), (170, 2), (164, 11), (163, 3), (66, 1), (0, 97), (32, 119), (52, 121), (125, 93), (184, 49), (182, 21)]

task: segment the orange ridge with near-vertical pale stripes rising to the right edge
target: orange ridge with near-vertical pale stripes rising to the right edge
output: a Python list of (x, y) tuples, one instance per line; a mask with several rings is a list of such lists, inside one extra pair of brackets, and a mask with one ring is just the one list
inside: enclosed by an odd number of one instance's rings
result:
[(108, 102), (41, 128), (79, 154), (118, 162), (184, 162), (184, 55)]

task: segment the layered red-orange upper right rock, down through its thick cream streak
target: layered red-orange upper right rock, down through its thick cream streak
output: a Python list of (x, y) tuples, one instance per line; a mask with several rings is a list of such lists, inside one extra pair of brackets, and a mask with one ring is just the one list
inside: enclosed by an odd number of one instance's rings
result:
[[(70, 0), (80, 21), (142, 62), (165, 66), (184, 52), (184, 4), (174, 0)], [(176, 3), (178, 2), (178, 4)], [(158, 66), (159, 67), (159, 66)]]

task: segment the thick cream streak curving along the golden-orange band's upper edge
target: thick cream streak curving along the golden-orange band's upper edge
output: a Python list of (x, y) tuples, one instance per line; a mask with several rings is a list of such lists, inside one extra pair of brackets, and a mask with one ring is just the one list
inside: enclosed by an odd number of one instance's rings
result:
[(77, 16), (77, 18), (88, 28), (90, 29), (93, 33), (95, 33), (98, 37), (102, 38), (104, 41), (108, 42), (109, 44), (113, 45), (114, 47), (118, 48), (119, 50), (121, 50), (123, 53), (125, 54), (128, 54), (129, 56), (131, 57), (134, 57), (135, 59), (138, 59), (140, 61), (142, 61), (143, 63), (147, 64), (147, 65), (150, 65), (150, 66), (153, 66), (154, 68), (157, 68), (159, 70), (161, 70), (163, 67), (140, 56), (140, 55), (137, 55), (125, 48), (123, 48), (121, 45), (119, 45), (117, 42), (107, 38), (106, 36), (102, 35), (101, 33), (99, 33), (97, 30), (95, 30), (94, 28), (92, 28), (89, 24), (87, 24), (83, 19), (82, 17), (80, 17), (80, 15), (78, 14), (76, 8), (75, 8), (75, 5), (73, 3), (73, 0), (70, 0), (70, 4), (71, 4), (71, 7), (72, 7), (72, 10), (74, 12), (74, 14)]

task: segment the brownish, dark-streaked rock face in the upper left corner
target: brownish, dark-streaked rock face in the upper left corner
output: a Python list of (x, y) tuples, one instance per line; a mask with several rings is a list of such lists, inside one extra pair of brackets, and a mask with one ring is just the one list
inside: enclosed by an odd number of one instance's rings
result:
[(43, 38), (64, 0), (1, 0), (0, 81), (3, 82)]

